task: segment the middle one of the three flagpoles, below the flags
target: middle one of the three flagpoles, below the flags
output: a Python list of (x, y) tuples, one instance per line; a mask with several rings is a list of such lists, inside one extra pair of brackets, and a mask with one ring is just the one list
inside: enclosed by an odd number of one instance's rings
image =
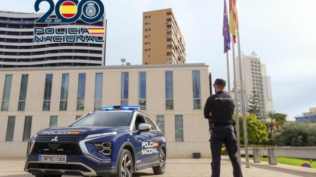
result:
[(237, 89), (237, 67), (236, 67), (236, 59), (235, 59), (235, 43), (234, 43), (234, 36), (232, 34), (232, 44), (233, 44), (233, 70), (234, 70), (234, 93), (235, 93), (235, 114), (236, 114), (236, 136), (237, 136), (237, 149), (238, 149), (238, 162), (240, 163), (240, 132), (239, 132), (239, 114), (238, 114), (238, 89)]

